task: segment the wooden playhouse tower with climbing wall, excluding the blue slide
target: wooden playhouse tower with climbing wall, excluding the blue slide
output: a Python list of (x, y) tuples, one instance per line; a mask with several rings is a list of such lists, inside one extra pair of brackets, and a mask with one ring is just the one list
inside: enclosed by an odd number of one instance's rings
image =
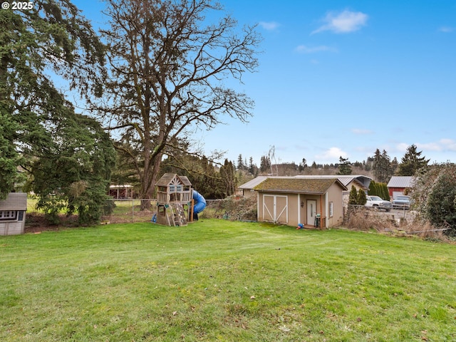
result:
[(165, 173), (155, 185), (157, 223), (185, 226), (192, 219), (192, 183), (185, 176)]

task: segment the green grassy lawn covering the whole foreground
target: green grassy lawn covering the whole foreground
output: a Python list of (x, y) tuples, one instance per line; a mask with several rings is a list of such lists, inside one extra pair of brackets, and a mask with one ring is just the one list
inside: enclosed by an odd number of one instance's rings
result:
[(0, 237), (0, 341), (456, 341), (456, 246), (204, 219)]

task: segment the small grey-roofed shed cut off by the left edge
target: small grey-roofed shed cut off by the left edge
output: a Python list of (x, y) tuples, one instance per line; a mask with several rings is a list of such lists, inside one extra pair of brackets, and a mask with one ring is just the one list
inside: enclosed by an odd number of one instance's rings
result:
[(24, 234), (26, 223), (27, 194), (10, 192), (0, 200), (0, 235)]

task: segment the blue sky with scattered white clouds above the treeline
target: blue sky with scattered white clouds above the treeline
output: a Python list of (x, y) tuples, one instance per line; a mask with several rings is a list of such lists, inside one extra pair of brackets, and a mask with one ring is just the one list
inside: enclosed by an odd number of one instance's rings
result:
[[(232, 86), (255, 101), (249, 123), (227, 119), (194, 138), (259, 165), (276, 160), (398, 160), (411, 144), (456, 162), (456, 1), (221, 1), (258, 24), (259, 68)], [(75, 1), (94, 26), (93, 1)]]

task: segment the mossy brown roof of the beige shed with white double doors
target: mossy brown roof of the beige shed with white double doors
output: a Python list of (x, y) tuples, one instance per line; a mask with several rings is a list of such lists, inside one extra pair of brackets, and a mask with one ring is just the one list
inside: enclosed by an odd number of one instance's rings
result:
[(296, 177), (274, 177), (267, 178), (254, 190), (259, 192), (294, 192), (301, 194), (322, 195), (329, 187), (337, 183), (343, 190), (347, 190), (336, 177), (334, 178), (296, 178)]

